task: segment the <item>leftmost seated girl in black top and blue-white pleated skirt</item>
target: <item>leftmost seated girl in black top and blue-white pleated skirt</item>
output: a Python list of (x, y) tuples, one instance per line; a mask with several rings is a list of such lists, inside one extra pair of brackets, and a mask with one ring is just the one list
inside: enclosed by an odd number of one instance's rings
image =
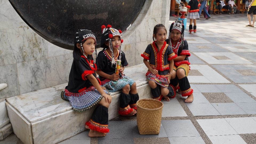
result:
[[(91, 119), (85, 123), (89, 137), (104, 137), (108, 129), (108, 107), (112, 97), (96, 77), (92, 54), (96, 49), (96, 35), (90, 30), (78, 30), (74, 38), (73, 63), (69, 83), (61, 98), (69, 101), (75, 111), (86, 111), (97, 105)], [(78, 122), (80, 123), (80, 122)]]

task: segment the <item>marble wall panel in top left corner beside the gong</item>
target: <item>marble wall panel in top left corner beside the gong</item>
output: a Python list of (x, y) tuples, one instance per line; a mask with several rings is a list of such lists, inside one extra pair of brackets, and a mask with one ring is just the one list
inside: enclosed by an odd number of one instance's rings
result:
[(7, 0), (0, 0), (0, 30), (28, 27)]

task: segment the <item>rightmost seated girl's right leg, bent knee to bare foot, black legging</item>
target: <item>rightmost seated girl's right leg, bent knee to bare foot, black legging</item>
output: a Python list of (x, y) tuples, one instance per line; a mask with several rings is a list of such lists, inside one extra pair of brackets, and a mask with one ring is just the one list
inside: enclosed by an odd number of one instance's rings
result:
[(191, 89), (187, 75), (189, 73), (189, 65), (182, 64), (177, 67), (176, 75), (179, 79), (179, 87), (182, 97), (186, 97), (185, 102), (193, 102), (193, 89)]

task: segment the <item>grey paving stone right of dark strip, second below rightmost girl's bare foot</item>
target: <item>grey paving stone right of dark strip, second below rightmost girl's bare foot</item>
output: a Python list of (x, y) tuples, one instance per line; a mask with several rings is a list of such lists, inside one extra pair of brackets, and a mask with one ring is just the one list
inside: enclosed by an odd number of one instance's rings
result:
[(194, 116), (221, 115), (210, 103), (186, 103)]

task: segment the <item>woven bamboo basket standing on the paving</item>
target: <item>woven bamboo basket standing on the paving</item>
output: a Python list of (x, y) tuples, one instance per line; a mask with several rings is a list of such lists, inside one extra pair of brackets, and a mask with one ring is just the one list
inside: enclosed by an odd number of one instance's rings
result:
[(137, 125), (139, 133), (159, 134), (163, 103), (156, 99), (140, 99), (137, 101)]

